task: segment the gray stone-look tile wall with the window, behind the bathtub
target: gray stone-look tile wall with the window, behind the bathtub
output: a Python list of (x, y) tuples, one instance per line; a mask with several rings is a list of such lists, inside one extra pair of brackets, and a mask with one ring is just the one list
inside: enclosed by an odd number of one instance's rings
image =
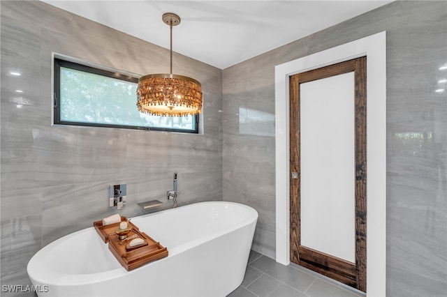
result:
[(128, 217), (142, 213), (140, 201), (171, 208), (173, 172), (179, 206), (222, 199), (221, 69), (173, 56), (175, 73), (203, 85), (204, 135), (52, 127), (51, 52), (131, 73), (169, 70), (166, 49), (41, 1), (1, 1), (1, 284), (29, 284), (36, 251), (115, 213), (109, 185), (127, 184)]

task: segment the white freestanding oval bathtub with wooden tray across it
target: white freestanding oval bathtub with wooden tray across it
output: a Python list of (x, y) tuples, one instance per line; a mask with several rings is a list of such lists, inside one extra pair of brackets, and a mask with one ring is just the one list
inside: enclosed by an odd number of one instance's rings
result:
[(38, 296), (226, 296), (244, 278), (257, 219), (253, 208), (223, 201), (141, 215), (133, 224), (168, 257), (126, 271), (90, 227), (45, 246), (27, 271), (45, 288)]

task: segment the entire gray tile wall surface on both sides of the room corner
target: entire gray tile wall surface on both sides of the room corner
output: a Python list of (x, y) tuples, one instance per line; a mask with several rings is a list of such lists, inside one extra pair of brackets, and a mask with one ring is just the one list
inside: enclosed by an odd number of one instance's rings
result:
[(274, 66), (386, 30), (387, 293), (446, 293), (447, 98), (434, 93), (447, 76), (445, 1), (390, 3), (223, 74), (175, 54), (175, 72), (203, 84), (200, 136), (51, 127), (52, 51), (140, 74), (166, 72), (168, 51), (45, 3), (0, 5), (1, 284), (27, 284), (43, 245), (110, 215), (108, 185), (127, 183), (123, 214), (138, 215), (135, 202), (163, 199), (175, 171), (180, 205), (223, 197), (256, 208), (254, 249), (274, 257)]

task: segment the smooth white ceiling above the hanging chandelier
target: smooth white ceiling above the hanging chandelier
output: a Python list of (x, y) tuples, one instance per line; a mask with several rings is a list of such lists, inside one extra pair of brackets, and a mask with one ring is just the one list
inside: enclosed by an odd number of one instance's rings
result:
[(41, 0), (169, 49), (163, 13), (176, 13), (173, 50), (217, 68), (349, 20), (392, 1)]

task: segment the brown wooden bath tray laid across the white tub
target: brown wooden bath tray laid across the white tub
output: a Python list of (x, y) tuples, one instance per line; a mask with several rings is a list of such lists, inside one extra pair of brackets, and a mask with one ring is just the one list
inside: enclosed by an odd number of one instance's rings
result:
[[(127, 220), (126, 217), (122, 216), (121, 221), (125, 220)], [(119, 227), (119, 222), (103, 226), (103, 221), (101, 220), (94, 222), (93, 225), (104, 243), (108, 243), (109, 250), (115, 258), (117, 258), (119, 263), (128, 271), (151, 261), (168, 257), (167, 248), (164, 248), (159, 242), (154, 241), (150, 236), (140, 231), (140, 229), (138, 229), (132, 222), (129, 222), (129, 227), (132, 229), (127, 236), (137, 235), (142, 238), (145, 243), (131, 248), (129, 247), (129, 242), (131, 240), (120, 241), (118, 235), (115, 233), (115, 229)], [(120, 242), (122, 245), (119, 244)]]

